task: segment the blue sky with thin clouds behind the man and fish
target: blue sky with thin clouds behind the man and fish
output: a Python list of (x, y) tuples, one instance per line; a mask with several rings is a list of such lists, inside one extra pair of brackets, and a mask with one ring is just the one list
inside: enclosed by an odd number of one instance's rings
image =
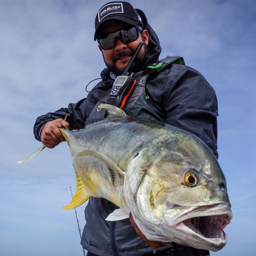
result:
[[(129, 1), (156, 31), (162, 53), (183, 56), (216, 91), (219, 163), (233, 220), (227, 245), (211, 255), (255, 254), (256, 3)], [(105, 1), (0, 1), (0, 255), (83, 255), (66, 143), (17, 164), (41, 143), (37, 116), (86, 97), (85, 85), (105, 67), (93, 41)], [(92, 85), (93, 86), (93, 85)], [(84, 205), (77, 208), (80, 228)]]

